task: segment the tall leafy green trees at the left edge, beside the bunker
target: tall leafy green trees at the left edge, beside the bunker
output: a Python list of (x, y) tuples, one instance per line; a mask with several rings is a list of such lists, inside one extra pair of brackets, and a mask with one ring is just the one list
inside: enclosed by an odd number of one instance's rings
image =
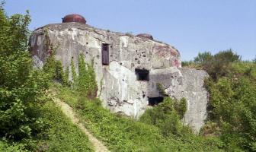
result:
[(33, 70), (27, 52), (28, 12), (7, 17), (1, 9), (0, 21), (0, 137), (19, 141), (37, 131), (37, 115), (31, 113), (48, 81)]

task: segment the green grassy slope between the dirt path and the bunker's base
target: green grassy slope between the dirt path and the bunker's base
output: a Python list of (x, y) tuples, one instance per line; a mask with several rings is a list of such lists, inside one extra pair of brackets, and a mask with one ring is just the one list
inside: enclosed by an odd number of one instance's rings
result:
[(91, 132), (111, 151), (222, 151), (218, 138), (197, 135), (166, 137), (160, 128), (110, 113), (98, 99), (87, 100), (74, 90), (55, 85), (59, 98), (75, 109)]

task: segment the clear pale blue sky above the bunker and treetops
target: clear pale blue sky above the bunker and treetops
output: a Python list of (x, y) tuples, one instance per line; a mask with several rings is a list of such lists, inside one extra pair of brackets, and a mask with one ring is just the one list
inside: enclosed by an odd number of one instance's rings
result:
[(8, 15), (30, 11), (30, 30), (82, 14), (87, 24), (117, 32), (150, 33), (190, 60), (198, 52), (233, 49), (256, 57), (256, 0), (5, 0)]

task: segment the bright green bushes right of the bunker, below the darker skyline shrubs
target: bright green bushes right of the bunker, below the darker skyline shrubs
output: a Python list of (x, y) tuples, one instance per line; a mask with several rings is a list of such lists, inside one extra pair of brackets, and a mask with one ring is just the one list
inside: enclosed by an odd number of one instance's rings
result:
[(254, 150), (256, 142), (256, 84), (249, 78), (207, 81), (209, 119), (216, 122), (227, 149)]

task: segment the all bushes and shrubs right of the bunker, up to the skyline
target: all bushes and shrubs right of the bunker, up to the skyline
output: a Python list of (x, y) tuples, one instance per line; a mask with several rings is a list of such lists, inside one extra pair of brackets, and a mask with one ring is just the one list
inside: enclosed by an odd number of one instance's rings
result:
[(184, 65), (210, 74), (209, 115), (202, 135), (219, 137), (226, 150), (256, 150), (256, 62), (241, 61), (229, 49), (216, 55), (199, 53)]

